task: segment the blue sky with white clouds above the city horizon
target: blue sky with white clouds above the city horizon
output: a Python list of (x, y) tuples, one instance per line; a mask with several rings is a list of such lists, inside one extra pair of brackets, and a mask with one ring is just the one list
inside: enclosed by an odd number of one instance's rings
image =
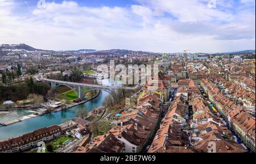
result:
[(255, 49), (255, 0), (0, 0), (0, 44), (19, 43), (162, 53)]

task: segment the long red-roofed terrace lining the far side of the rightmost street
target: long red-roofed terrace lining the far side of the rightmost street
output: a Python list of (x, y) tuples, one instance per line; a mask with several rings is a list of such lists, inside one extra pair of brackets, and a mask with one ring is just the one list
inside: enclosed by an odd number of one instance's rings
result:
[(229, 127), (240, 137), (247, 148), (255, 152), (255, 116), (249, 114), (246, 107), (237, 105), (208, 79), (201, 81), (207, 90), (209, 100), (214, 102), (218, 111), (228, 121)]

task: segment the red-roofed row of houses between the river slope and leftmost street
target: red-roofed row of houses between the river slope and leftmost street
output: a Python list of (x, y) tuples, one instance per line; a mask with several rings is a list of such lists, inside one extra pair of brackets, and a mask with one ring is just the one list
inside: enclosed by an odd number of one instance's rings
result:
[(137, 108), (123, 115), (105, 135), (94, 137), (80, 146), (75, 153), (109, 152), (137, 153), (146, 146), (154, 134), (160, 115), (160, 94), (143, 93), (138, 98)]

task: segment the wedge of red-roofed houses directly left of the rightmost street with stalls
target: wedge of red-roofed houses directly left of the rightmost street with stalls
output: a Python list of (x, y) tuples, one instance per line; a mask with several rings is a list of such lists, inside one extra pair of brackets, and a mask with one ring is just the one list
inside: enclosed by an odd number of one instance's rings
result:
[(246, 147), (237, 143), (220, 116), (214, 115), (208, 102), (201, 97), (193, 100), (193, 119), (189, 143), (196, 152), (245, 153)]

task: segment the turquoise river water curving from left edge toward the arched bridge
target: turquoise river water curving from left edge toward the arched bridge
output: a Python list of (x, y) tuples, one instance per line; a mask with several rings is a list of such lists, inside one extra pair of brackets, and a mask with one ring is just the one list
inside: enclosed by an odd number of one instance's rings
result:
[[(76, 110), (80, 107), (85, 107), (89, 111), (100, 107), (104, 103), (105, 98), (109, 95), (108, 92), (101, 90), (98, 97), (81, 105), (72, 107), (65, 111), (58, 111), (56, 113), (45, 114), (35, 118), (23, 120), (22, 122), (10, 124), (9, 126), (0, 127), (0, 140), (17, 137), (24, 133), (35, 131), (39, 128), (52, 126), (53, 124), (61, 124), (71, 120), (76, 116)], [(15, 115), (15, 114), (14, 114)], [(24, 114), (26, 115), (26, 114)], [(23, 113), (19, 116), (23, 116)], [(1, 119), (1, 118), (0, 118)]]

